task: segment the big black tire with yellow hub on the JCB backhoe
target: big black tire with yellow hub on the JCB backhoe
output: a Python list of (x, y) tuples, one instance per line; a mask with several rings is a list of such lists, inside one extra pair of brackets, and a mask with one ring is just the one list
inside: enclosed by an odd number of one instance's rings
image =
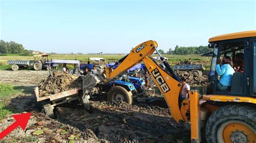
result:
[(256, 109), (223, 106), (212, 113), (205, 130), (207, 142), (256, 142)]

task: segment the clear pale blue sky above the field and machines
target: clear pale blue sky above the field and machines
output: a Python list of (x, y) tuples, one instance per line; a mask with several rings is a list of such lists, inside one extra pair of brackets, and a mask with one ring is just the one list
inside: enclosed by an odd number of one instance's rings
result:
[(48, 53), (129, 53), (147, 40), (167, 52), (256, 30), (256, 1), (0, 1), (0, 39)]

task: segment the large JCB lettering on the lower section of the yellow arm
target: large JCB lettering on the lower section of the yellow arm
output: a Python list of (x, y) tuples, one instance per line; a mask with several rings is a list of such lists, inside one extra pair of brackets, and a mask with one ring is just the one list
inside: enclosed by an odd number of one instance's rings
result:
[(164, 93), (170, 91), (170, 88), (168, 87), (168, 85), (164, 81), (163, 76), (160, 74), (160, 72), (157, 68), (152, 70), (151, 73), (152, 73), (154, 79), (156, 79), (157, 83), (160, 85), (161, 90), (163, 90)]

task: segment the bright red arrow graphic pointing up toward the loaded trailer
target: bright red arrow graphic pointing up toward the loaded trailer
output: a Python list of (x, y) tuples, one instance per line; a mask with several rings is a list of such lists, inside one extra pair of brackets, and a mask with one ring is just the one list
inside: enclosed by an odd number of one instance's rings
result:
[(18, 126), (21, 126), (22, 130), (25, 131), (26, 124), (28, 124), (30, 115), (31, 113), (12, 115), (12, 117), (14, 117), (16, 121), (0, 133), (0, 140), (2, 140), (7, 134), (9, 134)]

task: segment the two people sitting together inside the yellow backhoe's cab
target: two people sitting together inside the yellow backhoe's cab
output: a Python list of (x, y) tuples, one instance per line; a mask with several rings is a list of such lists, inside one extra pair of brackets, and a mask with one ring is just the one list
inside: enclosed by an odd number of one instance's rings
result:
[(237, 53), (233, 61), (230, 56), (223, 56), (223, 60), (216, 61), (216, 73), (220, 76), (217, 82), (218, 90), (227, 90), (231, 87), (232, 76), (235, 72), (244, 73), (244, 54)]

